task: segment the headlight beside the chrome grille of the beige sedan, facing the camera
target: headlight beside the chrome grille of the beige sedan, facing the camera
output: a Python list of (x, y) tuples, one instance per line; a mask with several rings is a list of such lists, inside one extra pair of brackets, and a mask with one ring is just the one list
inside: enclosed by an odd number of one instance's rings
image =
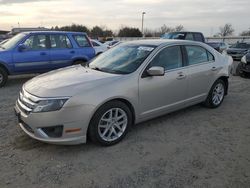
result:
[(67, 100), (68, 98), (41, 100), (37, 103), (32, 112), (36, 113), (60, 110)]

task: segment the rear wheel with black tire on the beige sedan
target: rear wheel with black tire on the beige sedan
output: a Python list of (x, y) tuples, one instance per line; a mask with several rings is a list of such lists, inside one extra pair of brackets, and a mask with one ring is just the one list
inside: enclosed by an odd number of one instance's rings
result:
[(217, 80), (210, 89), (210, 92), (205, 101), (205, 106), (208, 108), (219, 107), (224, 100), (225, 93), (226, 93), (225, 82), (221, 79)]

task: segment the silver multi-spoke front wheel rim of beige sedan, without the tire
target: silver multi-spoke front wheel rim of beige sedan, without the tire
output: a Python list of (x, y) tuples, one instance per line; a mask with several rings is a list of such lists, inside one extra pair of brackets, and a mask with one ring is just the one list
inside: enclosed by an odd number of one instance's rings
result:
[(98, 134), (108, 142), (120, 138), (126, 130), (128, 117), (121, 108), (112, 108), (104, 113), (98, 124)]

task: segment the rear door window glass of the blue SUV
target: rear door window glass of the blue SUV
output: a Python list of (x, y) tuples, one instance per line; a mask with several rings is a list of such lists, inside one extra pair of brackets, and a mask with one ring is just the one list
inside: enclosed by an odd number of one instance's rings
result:
[(50, 35), (51, 48), (72, 48), (71, 42), (66, 35)]

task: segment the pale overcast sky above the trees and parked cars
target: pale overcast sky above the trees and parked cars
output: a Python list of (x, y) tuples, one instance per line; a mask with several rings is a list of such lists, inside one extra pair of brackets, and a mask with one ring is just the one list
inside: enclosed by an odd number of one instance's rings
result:
[(250, 0), (0, 0), (0, 30), (17, 27), (105, 25), (141, 28), (182, 24), (186, 30), (216, 34), (219, 26), (231, 23), (235, 35), (250, 28)]

